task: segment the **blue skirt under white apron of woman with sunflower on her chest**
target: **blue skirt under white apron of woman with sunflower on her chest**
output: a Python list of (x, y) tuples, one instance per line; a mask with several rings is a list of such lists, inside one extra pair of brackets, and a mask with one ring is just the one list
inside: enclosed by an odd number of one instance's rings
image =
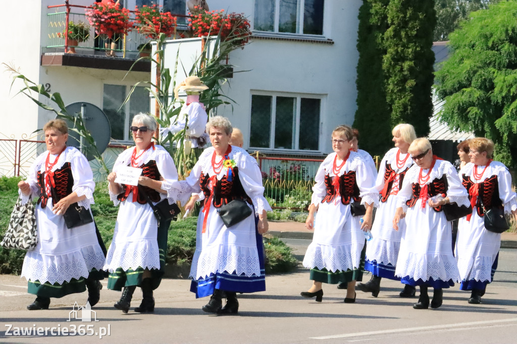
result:
[(262, 235), (258, 234), (256, 228), (258, 217), (255, 217), (255, 239), (258, 253), (258, 262), (260, 264), (260, 276), (247, 277), (245, 274), (240, 276), (226, 271), (216, 272), (210, 274), (206, 278), (192, 280), (190, 284), (190, 291), (195, 293), (195, 297), (204, 298), (214, 293), (214, 289), (224, 291), (235, 291), (238, 293), (254, 293), (257, 291), (266, 290), (266, 270), (264, 267), (264, 244), (262, 242)]

